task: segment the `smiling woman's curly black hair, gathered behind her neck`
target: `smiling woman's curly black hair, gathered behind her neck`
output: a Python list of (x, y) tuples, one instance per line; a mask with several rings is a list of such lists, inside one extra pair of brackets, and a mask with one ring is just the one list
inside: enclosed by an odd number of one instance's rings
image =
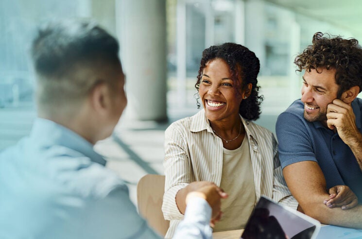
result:
[[(263, 96), (259, 96), (260, 86), (257, 85), (260, 69), (258, 57), (253, 51), (236, 43), (224, 43), (205, 49), (202, 53), (199, 74), (195, 84), (197, 91), (199, 91), (203, 70), (207, 62), (216, 58), (223, 59), (227, 63), (233, 81), (238, 82), (237, 79), (242, 79), (241, 89), (249, 83), (252, 84), (251, 94), (247, 99), (241, 101), (239, 113), (247, 120), (257, 120), (260, 115), (260, 103), (263, 101)], [(197, 102), (197, 105), (200, 107), (200, 102)]]

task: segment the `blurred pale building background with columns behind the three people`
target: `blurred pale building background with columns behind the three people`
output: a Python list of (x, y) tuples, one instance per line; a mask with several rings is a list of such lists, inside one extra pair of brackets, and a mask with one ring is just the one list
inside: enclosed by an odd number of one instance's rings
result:
[(129, 103), (114, 136), (96, 148), (118, 159), (114, 168), (129, 181), (140, 168), (131, 185), (163, 173), (164, 129), (199, 110), (194, 85), (205, 48), (236, 42), (256, 53), (264, 95), (257, 123), (274, 132), (278, 114), (300, 98), (293, 60), (312, 35), (362, 41), (360, 0), (0, 0), (0, 151), (27, 135), (36, 116), (28, 54), (36, 27), (64, 18), (96, 20), (120, 40)]

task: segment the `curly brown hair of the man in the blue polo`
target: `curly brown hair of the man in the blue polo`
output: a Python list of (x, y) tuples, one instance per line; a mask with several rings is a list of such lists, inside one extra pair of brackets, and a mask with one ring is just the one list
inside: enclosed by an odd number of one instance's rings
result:
[(294, 63), (297, 71), (315, 69), (321, 73), (318, 68), (336, 69), (337, 98), (355, 85), (362, 90), (362, 49), (354, 38), (331, 38), (329, 34), (315, 33), (312, 45), (299, 54)]

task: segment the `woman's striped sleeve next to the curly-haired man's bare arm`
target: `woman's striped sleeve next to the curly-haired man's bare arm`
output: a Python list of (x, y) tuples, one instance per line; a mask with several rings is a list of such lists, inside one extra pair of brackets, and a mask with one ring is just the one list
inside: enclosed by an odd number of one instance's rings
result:
[(297, 209), (298, 202), (290, 192), (287, 183), (284, 180), (283, 173), (281, 170), (279, 157), (278, 157), (278, 146), (274, 135), (273, 138), (273, 154), (274, 154), (274, 180), (273, 180), (273, 199), (282, 205), (289, 206), (293, 209)]

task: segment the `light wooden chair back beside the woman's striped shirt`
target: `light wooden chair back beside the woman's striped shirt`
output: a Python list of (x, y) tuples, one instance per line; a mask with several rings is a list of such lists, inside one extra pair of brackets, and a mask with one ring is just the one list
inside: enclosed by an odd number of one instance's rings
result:
[(137, 184), (137, 205), (139, 214), (162, 236), (170, 226), (161, 210), (165, 192), (165, 175), (146, 174)]

